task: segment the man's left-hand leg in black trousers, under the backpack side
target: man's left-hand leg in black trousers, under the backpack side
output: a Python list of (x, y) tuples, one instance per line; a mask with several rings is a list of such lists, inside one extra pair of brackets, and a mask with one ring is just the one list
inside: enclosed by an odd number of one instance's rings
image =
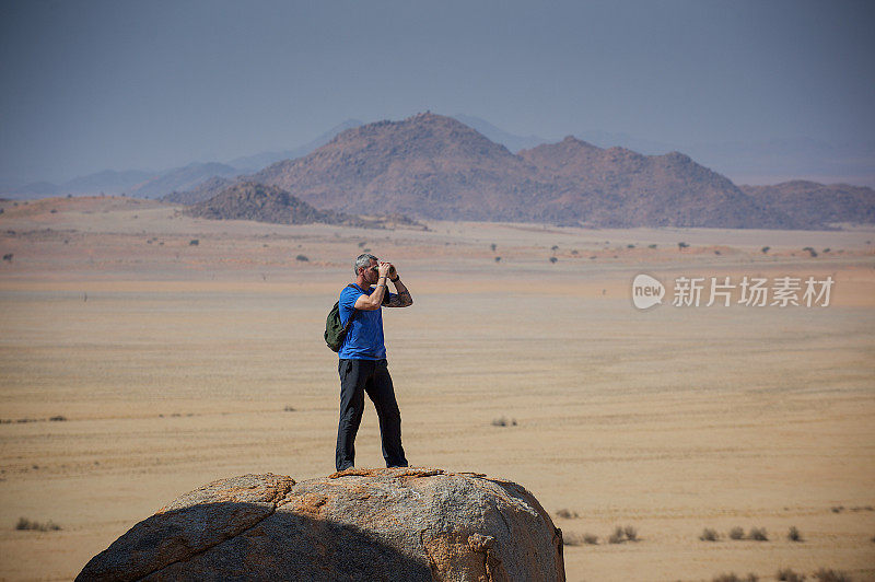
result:
[(343, 470), (355, 464), (355, 433), (364, 411), (364, 383), (373, 369), (369, 360), (340, 360), (340, 422), (337, 426), (335, 466)]

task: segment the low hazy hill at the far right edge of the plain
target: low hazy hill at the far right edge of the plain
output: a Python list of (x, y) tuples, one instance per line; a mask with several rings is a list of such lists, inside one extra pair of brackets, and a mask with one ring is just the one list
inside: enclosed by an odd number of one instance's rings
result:
[(800, 222), (875, 224), (875, 190), (865, 186), (796, 179), (740, 188), (760, 203)]

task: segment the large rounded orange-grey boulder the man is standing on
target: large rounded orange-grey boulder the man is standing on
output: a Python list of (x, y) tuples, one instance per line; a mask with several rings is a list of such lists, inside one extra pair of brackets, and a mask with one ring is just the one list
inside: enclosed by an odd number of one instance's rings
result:
[(512, 481), (428, 468), (245, 475), (135, 525), (77, 580), (564, 580), (562, 534)]

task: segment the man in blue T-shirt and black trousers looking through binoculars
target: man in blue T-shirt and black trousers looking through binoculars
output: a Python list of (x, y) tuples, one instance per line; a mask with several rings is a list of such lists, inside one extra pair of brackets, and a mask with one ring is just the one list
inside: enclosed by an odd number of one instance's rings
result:
[[(340, 422), (337, 428), (335, 464), (343, 470), (355, 464), (355, 433), (364, 411), (364, 393), (374, 403), (380, 419), (383, 458), (387, 467), (406, 467), (401, 446), (401, 412), (395, 399), (383, 342), (382, 307), (408, 307), (413, 299), (389, 263), (370, 254), (355, 259), (355, 281), (340, 293), (340, 322), (352, 324), (338, 352), (340, 361)], [(389, 293), (390, 280), (397, 293)]]

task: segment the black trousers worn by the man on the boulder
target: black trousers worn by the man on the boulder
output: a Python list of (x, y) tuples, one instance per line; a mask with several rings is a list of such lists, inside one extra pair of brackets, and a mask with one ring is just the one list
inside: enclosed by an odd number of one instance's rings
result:
[(395, 399), (386, 360), (340, 360), (340, 423), (335, 465), (343, 470), (355, 464), (355, 433), (364, 412), (364, 393), (374, 403), (387, 467), (406, 467), (401, 446), (401, 412)]

